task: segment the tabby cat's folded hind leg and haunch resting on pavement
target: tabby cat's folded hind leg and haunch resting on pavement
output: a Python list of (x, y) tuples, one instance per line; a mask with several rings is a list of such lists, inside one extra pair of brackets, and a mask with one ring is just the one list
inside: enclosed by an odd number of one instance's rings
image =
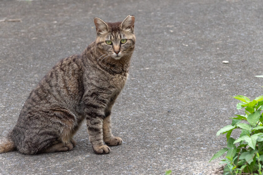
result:
[(41, 113), (24, 118), (13, 129), (16, 148), (23, 154), (70, 151), (75, 146), (75, 116), (65, 109), (47, 109)]

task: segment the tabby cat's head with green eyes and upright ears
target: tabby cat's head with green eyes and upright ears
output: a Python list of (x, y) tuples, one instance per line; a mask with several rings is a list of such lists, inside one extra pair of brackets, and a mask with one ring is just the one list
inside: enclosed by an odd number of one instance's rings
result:
[(135, 44), (134, 16), (127, 16), (123, 22), (104, 22), (95, 17), (96, 44), (101, 53), (116, 60), (131, 56)]

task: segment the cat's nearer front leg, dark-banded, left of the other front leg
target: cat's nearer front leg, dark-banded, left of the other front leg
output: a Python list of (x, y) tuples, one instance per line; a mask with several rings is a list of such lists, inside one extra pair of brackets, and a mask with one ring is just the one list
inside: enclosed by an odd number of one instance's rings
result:
[(87, 117), (87, 129), (89, 133), (89, 140), (92, 149), (96, 154), (110, 153), (111, 149), (103, 144), (102, 125), (103, 119), (101, 117)]

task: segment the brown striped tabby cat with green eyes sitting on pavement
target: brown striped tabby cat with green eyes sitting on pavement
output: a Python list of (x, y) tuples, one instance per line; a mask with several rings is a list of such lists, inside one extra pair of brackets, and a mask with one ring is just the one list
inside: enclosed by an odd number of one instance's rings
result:
[(96, 154), (110, 153), (108, 146), (120, 145), (122, 139), (111, 133), (111, 108), (128, 77), (136, 40), (134, 22), (131, 15), (115, 23), (95, 17), (96, 40), (42, 78), (13, 130), (0, 140), (0, 153), (70, 151), (84, 119)]

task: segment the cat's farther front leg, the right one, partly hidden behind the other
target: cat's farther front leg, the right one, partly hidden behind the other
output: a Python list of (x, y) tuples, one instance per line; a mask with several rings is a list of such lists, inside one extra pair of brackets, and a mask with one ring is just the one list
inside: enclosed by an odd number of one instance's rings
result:
[(103, 140), (108, 146), (116, 146), (122, 143), (120, 137), (115, 137), (111, 133), (111, 115), (103, 119)]

